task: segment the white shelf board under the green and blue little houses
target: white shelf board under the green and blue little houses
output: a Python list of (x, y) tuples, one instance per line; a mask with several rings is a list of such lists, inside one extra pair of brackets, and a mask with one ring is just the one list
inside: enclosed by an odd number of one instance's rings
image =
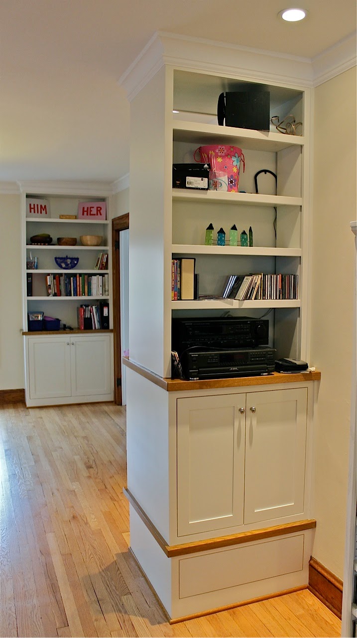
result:
[(243, 255), (263, 257), (301, 257), (300, 248), (263, 248), (258, 246), (198, 246), (172, 244), (172, 255)]

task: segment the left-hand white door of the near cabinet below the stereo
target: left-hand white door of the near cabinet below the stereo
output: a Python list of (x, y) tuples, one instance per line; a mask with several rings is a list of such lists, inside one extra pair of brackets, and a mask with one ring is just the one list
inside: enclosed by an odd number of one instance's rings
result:
[(178, 399), (178, 536), (243, 523), (245, 394)]

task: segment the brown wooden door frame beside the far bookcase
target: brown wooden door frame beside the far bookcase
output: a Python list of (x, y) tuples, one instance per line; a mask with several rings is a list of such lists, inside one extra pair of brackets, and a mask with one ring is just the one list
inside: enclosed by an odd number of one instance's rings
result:
[(122, 339), (120, 337), (120, 232), (129, 230), (129, 212), (111, 220), (113, 255), (114, 401), (122, 405)]

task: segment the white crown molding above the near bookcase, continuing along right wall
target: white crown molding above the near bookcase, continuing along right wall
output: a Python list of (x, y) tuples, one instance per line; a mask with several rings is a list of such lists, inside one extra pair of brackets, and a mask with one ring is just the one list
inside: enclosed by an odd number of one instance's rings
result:
[(356, 34), (311, 59), (158, 31), (119, 79), (128, 100), (132, 101), (165, 64), (302, 89), (356, 65)]

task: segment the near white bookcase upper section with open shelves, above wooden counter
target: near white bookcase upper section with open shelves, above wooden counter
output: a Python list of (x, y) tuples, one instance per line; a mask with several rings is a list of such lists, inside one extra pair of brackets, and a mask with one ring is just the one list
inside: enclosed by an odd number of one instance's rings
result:
[[(270, 116), (293, 114), (300, 136), (274, 126), (255, 131), (216, 123), (221, 91), (262, 86), (270, 92)], [(270, 346), (277, 357), (308, 359), (310, 89), (220, 77), (164, 66), (131, 103), (130, 358), (160, 376), (171, 373), (172, 316), (262, 316), (269, 318)], [(173, 110), (179, 112), (173, 114)], [(238, 193), (172, 189), (172, 163), (193, 162), (200, 145), (232, 144), (244, 152), (246, 171)], [(255, 193), (254, 175), (262, 169)], [(276, 211), (274, 207), (276, 207)], [(274, 217), (276, 219), (276, 235)], [(205, 246), (206, 227), (226, 237), (253, 228), (253, 248)], [(297, 274), (294, 300), (171, 300), (171, 260), (193, 256), (199, 293), (218, 295), (230, 274)]]

